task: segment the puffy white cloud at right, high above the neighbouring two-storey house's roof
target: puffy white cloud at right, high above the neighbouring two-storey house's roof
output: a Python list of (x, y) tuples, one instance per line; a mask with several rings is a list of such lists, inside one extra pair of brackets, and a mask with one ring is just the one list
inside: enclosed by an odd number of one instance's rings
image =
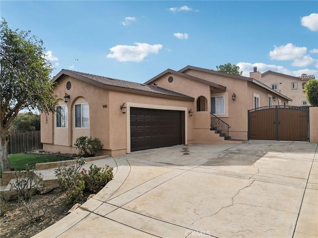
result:
[(295, 60), (303, 57), (307, 52), (306, 47), (297, 47), (292, 43), (282, 46), (274, 46), (274, 50), (269, 52), (271, 60)]

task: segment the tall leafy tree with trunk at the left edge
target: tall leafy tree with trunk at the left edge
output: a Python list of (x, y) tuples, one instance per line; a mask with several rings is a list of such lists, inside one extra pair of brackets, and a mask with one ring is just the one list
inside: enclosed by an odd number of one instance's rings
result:
[(10, 171), (7, 156), (8, 130), (22, 109), (54, 112), (57, 99), (53, 70), (45, 58), (43, 41), (30, 36), (30, 31), (12, 31), (2, 19), (0, 24), (0, 157), (2, 171)]

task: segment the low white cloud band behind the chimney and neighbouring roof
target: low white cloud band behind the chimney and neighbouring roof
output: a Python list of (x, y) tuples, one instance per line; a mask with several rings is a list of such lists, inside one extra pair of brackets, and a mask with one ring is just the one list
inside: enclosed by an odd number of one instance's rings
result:
[(264, 63), (252, 64), (252, 63), (239, 62), (237, 66), (239, 66), (239, 70), (243, 72), (243, 76), (245, 77), (249, 77), (249, 73), (253, 72), (253, 67), (257, 67), (257, 71), (260, 73), (265, 73), (266, 71), (274, 71), (277, 73), (295, 76), (295, 77), (299, 77), (302, 74), (315, 75), (316, 77), (318, 76), (318, 70), (301, 69), (297, 71), (291, 71), (284, 68), (283, 66), (267, 65)]

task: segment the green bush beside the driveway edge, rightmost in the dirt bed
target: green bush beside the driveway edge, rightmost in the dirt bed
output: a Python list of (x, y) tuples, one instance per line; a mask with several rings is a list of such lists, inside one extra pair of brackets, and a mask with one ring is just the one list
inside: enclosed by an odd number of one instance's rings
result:
[(110, 180), (113, 179), (113, 168), (106, 165), (105, 169), (92, 164), (89, 170), (81, 171), (84, 182), (85, 191), (89, 193), (99, 192)]

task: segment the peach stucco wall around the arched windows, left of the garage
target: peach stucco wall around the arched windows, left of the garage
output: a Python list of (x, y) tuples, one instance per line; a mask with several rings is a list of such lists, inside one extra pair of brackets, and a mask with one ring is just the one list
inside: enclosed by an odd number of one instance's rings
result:
[[(66, 88), (68, 81), (72, 84), (70, 90)], [(54, 92), (60, 100), (59, 104), (68, 106), (68, 128), (56, 127), (55, 114), (48, 116), (48, 123), (41, 120), (43, 150), (52, 151), (52, 148), (54, 148), (53, 152), (76, 154), (74, 143), (79, 136), (97, 137), (102, 141), (103, 149), (108, 150), (108, 110), (103, 108), (103, 105), (108, 104), (108, 91), (78, 79), (64, 76), (58, 81), (58, 86), (55, 87)], [(64, 102), (65, 93), (70, 95), (67, 103)], [(82, 102), (87, 102), (89, 105), (89, 128), (75, 128), (75, 104)], [(45, 118), (45, 116), (41, 115), (42, 118)], [(100, 133), (100, 128), (103, 128), (103, 133)], [(52, 147), (49, 144), (56, 146)], [(104, 151), (104, 153), (107, 153), (107, 151)]]

